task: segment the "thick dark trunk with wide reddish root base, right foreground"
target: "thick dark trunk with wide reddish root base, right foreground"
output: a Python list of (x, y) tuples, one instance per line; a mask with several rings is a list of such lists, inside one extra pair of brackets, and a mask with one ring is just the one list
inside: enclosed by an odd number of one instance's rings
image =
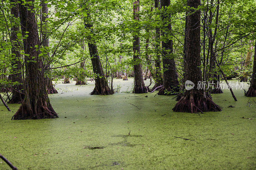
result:
[[(187, 3), (190, 8), (197, 8), (201, 5), (200, 0), (188, 0)], [(190, 9), (188, 11), (186, 25), (185, 80), (192, 81), (195, 87), (186, 90), (172, 110), (191, 113), (221, 111), (221, 107), (215, 104), (209, 96), (204, 97), (203, 89), (197, 89), (196, 87), (197, 83), (202, 81), (200, 69), (200, 10)]]

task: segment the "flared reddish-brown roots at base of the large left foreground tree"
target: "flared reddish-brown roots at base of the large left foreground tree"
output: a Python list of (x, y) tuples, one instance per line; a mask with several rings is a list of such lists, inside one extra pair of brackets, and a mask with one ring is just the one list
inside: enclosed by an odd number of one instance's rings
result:
[(57, 118), (57, 113), (53, 110), (52, 105), (49, 103), (47, 106), (46, 100), (40, 98), (37, 101), (36, 113), (29, 113), (27, 103), (24, 100), (20, 105), (18, 111), (13, 115), (14, 120), (25, 120), (25, 119), (53, 119)]

